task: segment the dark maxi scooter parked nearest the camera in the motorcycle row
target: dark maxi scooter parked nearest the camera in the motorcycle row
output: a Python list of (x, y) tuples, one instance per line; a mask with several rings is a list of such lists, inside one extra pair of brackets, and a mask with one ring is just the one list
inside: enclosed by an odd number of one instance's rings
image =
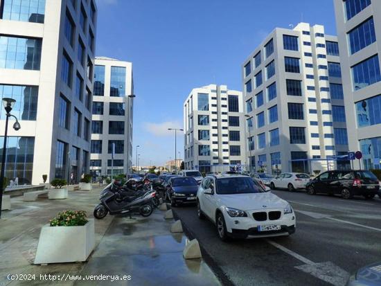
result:
[(100, 204), (94, 208), (94, 217), (100, 220), (107, 213), (130, 216), (132, 213), (139, 213), (143, 217), (148, 217), (154, 210), (152, 199), (155, 196), (153, 190), (132, 193), (111, 183), (100, 193)]

